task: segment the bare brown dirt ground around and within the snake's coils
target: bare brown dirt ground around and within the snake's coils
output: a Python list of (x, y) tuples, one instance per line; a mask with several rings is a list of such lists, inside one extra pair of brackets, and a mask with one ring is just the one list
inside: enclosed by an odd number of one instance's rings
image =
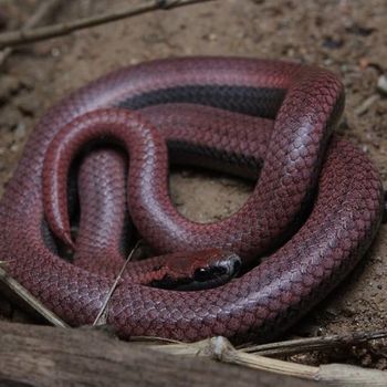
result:
[[(0, 0), (0, 28), (21, 25), (38, 3)], [(129, 2), (64, 3), (51, 22), (119, 9)], [(384, 0), (219, 0), (20, 48), (0, 74), (0, 195), (33, 124), (54, 101), (118, 66), (194, 54), (295, 60), (337, 73), (347, 96), (338, 130), (369, 155), (387, 187), (387, 98), (377, 90), (378, 79), (387, 74), (386, 25)], [(176, 205), (198, 221), (234, 212), (251, 189), (227, 176), (197, 170), (171, 174)], [(387, 226), (383, 226), (374, 247), (349, 279), (287, 337), (387, 330), (386, 251)], [(4, 301), (0, 304), (4, 310)], [(306, 364), (348, 362), (387, 369), (386, 344), (370, 343), (294, 359)]]

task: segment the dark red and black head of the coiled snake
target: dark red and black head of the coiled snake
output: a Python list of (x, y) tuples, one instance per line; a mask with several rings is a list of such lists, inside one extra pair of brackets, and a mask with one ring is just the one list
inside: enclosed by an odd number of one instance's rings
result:
[(240, 268), (241, 259), (233, 252), (208, 249), (174, 253), (165, 262), (163, 278), (151, 285), (181, 291), (216, 287), (234, 278)]

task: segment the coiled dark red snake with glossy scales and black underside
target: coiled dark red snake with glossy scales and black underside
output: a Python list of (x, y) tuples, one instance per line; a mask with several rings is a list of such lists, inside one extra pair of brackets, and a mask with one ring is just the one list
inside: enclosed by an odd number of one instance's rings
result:
[[(88, 83), (41, 117), (7, 185), (7, 272), (72, 326), (92, 324), (108, 296), (122, 338), (284, 333), (381, 221), (378, 171), (333, 133), (344, 100), (327, 70), (248, 57), (155, 60)], [(254, 188), (237, 212), (195, 222), (169, 194), (172, 164)], [(136, 236), (156, 257), (125, 261)]]

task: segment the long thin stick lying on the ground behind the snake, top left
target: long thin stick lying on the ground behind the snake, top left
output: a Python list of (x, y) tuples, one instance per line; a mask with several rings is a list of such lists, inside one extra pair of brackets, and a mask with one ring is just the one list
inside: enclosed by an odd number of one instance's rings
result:
[(145, 4), (128, 7), (119, 11), (103, 13), (94, 17), (83, 18), (73, 22), (64, 22), (53, 25), (36, 28), (33, 30), (19, 30), (0, 34), (0, 48), (13, 46), (23, 43), (36, 42), (39, 40), (62, 36), (76, 30), (109, 23), (124, 18), (136, 17), (155, 10), (167, 10), (184, 6), (192, 6), (199, 2), (213, 0), (150, 0)]

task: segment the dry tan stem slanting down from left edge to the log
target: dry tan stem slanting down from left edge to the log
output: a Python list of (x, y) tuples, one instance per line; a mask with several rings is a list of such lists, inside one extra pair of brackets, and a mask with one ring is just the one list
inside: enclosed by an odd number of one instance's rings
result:
[[(7, 262), (1, 262), (1, 264), (6, 265)], [(2, 268), (0, 268), (0, 281), (12, 292), (12, 294), (15, 294), (20, 300), (30, 305), (49, 323), (54, 326), (70, 327), (63, 320), (48, 310), (46, 306), (44, 306), (38, 299), (35, 299), (24, 286), (12, 279)]]

